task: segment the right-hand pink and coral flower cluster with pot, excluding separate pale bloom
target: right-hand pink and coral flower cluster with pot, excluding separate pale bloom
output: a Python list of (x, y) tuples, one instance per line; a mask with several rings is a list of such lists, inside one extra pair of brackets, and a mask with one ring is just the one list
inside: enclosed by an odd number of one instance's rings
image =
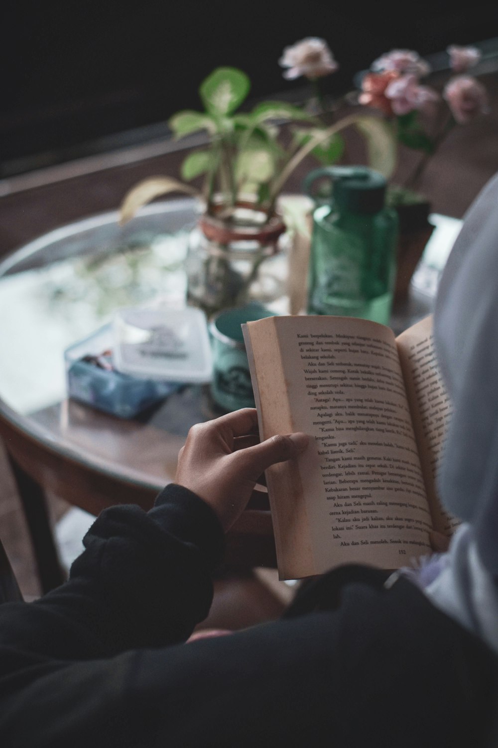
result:
[(358, 102), (382, 111), (396, 141), (420, 152), (417, 166), (405, 183), (390, 183), (387, 191), (387, 202), (399, 216), (397, 298), (408, 294), (411, 275), (433, 231), (429, 223), (431, 203), (420, 192), (424, 171), (455, 126), (489, 111), (484, 86), (467, 74), (479, 61), (479, 50), (452, 45), (447, 52), (452, 74), (441, 94), (422, 84), (430, 67), (411, 50), (393, 49), (382, 55), (361, 80)]

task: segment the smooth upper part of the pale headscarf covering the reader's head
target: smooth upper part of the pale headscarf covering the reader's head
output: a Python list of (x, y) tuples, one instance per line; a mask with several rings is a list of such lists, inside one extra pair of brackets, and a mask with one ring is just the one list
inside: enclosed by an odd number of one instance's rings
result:
[(498, 175), (465, 216), (441, 278), (434, 324), (454, 407), (441, 499), (473, 525), (482, 562), (498, 577)]

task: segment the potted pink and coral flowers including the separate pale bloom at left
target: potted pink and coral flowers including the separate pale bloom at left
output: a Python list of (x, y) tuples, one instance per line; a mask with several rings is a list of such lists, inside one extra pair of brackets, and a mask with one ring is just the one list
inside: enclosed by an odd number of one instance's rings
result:
[[(371, 159), (373, 151), (368, 159), (370, 167), (382, 171), (389, 180), (387, 204), (396, 209), (399, 217), (395, 289), (398, 299), (408, 294), (411, 276), (434, 230), (429, 223), (430, 200), (420, 191), (426, 167), (455, 126), (467, 124), (489, 111), (484, 86), (467, 72), (479, 62), (479, 49), (452, 45), (447, 53), (451, 72), (441, 94), (423, 85), (431, 69), (417, 52), (393, 49), (376, 59), (366, 73), (358, 74), (360, 91), (344, 97), (348, 103), (376, 109), (396, 143), (389, 159), (375, 162)], [(310, 37), (286, 47), (279, 63), (286, 69), (284, 78), (304, 76), (310, 82), (308, 111), (326, 121), (337, 116), (340, 100), (331, 103), (320, 86), (321, 79), (338, 67), (325, 40)], [(393, 183), (399, 155), (397, 146), (420, 153), (414, 171), (402, 184)]]

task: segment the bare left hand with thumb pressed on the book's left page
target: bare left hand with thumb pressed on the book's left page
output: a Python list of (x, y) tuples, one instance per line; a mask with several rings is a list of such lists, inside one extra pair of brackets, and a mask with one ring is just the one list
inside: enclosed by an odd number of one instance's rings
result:
[(298, 432), (259, 443), (255, 408), (243, 408), (190, 429), (178, 455), (175, 482), (205, 500), (226, 532), (264, 470), (296, 457), (308, 441), (308, 435)]

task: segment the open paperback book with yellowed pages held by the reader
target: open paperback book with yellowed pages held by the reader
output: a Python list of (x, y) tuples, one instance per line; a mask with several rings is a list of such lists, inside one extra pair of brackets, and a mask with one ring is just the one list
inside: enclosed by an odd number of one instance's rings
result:
[(262, 439), (304, 431), (298, 459), (267, 470), (281, 579), (334, 565), (407, 565), (451, 534), (435, 475), (451, 407), (432, 317), (399, 337), (336, 316), (244, 325)]

